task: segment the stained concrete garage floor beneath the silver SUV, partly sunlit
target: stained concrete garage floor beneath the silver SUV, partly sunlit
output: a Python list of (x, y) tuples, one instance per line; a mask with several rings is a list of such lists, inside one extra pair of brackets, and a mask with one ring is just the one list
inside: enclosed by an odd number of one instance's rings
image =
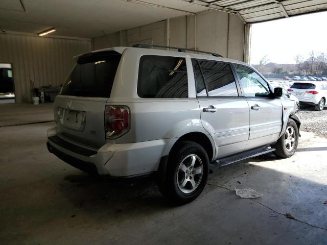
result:
[(52, 124), (0, 128), (0, 244), (327, 244), (326, 138), (301, 132), (292, 158), (221, 168), (173, 207), (152, 179), (94, 179), (48, 153)]

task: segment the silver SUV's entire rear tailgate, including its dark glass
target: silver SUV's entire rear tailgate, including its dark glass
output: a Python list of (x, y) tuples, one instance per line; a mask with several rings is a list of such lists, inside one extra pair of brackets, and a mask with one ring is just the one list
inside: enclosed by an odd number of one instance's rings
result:
[(105, 51), (77, 59), (54, 104), (59, 137), (92, 149), (106, 143), (105, 106), (121, 56)]

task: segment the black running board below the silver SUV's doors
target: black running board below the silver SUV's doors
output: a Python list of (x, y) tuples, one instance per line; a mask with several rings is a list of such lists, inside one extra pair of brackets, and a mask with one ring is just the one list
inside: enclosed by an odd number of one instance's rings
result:
[(260, 155), (264, 155), (270, 152), (275, 151), (276, 149), (274, 148), (268, 148), (268, 147), (260, 147), (260, 148), (255, 148), (249, 151), (241, 152), (232, 156), (228, 157), (223, 157), (220, 158), (216, 161), (213, 161), (212, 163), (209, 164), (209, 169), (210, 172), (212, 173), (216, 168), (223, 167), (226, 165), (229, 165), (231, 163), (239, 162), (248, 158), (252, 157), (258, 157)]

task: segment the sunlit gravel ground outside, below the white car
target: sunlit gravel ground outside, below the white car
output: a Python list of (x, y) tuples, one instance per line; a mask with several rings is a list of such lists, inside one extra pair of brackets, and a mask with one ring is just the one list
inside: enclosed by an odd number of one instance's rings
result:
[(327, 108), (322, 111), (315, 111), (314, 108), (300, 107), (297, 114), (302, 124), (300, 130), (327, 137)]

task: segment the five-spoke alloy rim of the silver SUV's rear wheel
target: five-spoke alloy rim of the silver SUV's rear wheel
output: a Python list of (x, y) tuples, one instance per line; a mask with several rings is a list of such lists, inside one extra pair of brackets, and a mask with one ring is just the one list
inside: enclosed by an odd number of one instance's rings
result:
[(201, 159), (190, 154), (186, 156), (178, 167), (176, 176), (178, 188), (183, 193), (191, 193), (198, 188), (203, 175), (203, 164)]

